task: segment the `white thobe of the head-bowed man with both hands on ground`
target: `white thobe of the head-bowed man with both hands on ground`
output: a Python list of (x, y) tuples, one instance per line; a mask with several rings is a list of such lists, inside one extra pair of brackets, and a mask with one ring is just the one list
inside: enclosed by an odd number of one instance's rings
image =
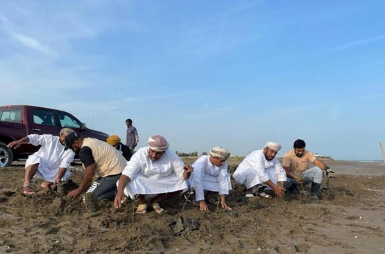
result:
[(196, 201), (205, 200), (205, 190), (229, 194), (231, 190), (228, 164), (217, 167), (209, 155), (200, 156), (192, 165), (194, 172), (189, 178), (189, 187), (194, 188)]

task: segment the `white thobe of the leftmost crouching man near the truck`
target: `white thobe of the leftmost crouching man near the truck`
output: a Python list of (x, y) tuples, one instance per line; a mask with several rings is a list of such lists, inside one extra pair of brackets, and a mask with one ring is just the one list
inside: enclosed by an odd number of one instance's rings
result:
[(26, 168), (29, 165), (39, 163), (35, 178), (53, 182), (60, 167), (67, 168), (62, 181), (67, 181), (71, 177), (69, 167), (74, 161), (75, 153), (71, 149), (65, 151), (65, 146), (60, 143), (58, 136), (31, 134), (28, 135), (28, 139), (31, 145), (42, 146), (35, 154), (28, 156), (26, 161)]

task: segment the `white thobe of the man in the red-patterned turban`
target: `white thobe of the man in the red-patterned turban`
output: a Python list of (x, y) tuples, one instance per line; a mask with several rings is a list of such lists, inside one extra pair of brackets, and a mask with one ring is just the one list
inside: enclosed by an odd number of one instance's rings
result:
[(166, 149), (157, 161), (151, 161), (149, 147), (142, 147), (132, 155), (122, 172), (131, 180), (126, 185), (124, 194), (134, 199), (137, 194), (185, 191), (188, 185), (183, 179), (183, 167), (185, 163), (171, 149)]

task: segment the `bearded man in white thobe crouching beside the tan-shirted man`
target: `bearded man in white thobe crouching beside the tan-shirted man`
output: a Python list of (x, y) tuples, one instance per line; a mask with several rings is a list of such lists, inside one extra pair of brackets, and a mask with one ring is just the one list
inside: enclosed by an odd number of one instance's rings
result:
[(275, 158), (280, 149), (277, 143), (268, 142), (264, 149), (252, 152), (239, 164), (232, 177), (246, 186), (246, 197), (254, 197), (253, 193), (257, 192), (260, 197), (271, 198), (262, 192), (266, 186), (273, 189), (276, 196), (284, 195), (286, 173)]

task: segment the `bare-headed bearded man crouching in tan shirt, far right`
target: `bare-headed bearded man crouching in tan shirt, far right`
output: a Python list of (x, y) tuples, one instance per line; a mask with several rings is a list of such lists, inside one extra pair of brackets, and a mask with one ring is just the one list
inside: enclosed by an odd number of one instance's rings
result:
[[(297, 194), (299, 181), (304, 184), (311, 182), (311, 197), (318, 199), (317, 194), (320, 190), (324, 170), (326, 176), (330, 178), (334, 178), (334, 172), (323, 161), (305, 150), (305, 146), (305, 141), (298, 139), (294, 142), (293, 149), (284, 155), (282, 166), (288, 176), (286, 188), (289, 188), (293, 194)], [(309, 162), (316, 166), (309, 169)]]

